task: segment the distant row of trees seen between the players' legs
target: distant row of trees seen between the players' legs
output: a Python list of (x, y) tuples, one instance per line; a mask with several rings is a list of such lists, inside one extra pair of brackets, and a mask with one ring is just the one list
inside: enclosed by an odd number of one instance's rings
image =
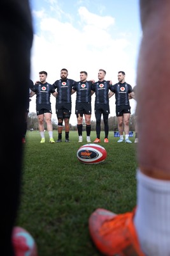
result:
[[(53, 130), (57, 130), (57, 119), (52, 120), (53, 124)], [(85, 126), (85, 121), (83, 120), (83, 126)], [(109, 127), (110, 131), (118, 131), (118, 123), (117, 123), (117, 116), (110, 116), (109, 118)], [(38, 130), (38, 118), (36, 113), (32, 112), (29, 113), (27, 118), (27, 129), (28, 130)], [(45, 129), (46, 129), (46, 123), (45, 123)], [(70, 124), (70, 130), (76, 131), (77, 127), (76, 125)], [(96, 121), (91, 121), (91, 129), (92, 131), (96, 131)], [(135, 115), (131, 115), (130, 122), (129, 122), (129, 130), (135, 131)], [(103, 120), (101, 122), (101, 131), (104, 131), (104, 123)]]

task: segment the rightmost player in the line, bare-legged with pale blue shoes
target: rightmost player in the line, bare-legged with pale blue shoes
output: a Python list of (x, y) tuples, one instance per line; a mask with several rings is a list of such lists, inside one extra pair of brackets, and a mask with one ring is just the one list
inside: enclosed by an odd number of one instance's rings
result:
[(129, 119), (131, 116), (131, 106), (129, 103), (129, 95), (134, 99), (134, 92), (132, 86), (125, 83), (125, 72), (118, 72), (118, 83), (111, 86), (111, 92), (109, 97), (115, 93), (116, 98), (116, 115), (118, 119), (118, 132), (120, 134), (120, 139), (117, 141), (121, 143), (124, 141), (123, 132), (125, 131), (125, 142), (132, 143), (129, 140)]

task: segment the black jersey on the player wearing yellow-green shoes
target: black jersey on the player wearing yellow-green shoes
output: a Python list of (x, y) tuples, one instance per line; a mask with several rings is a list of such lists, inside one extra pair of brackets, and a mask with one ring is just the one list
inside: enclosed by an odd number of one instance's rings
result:
[(55, 92), (52, 84), (39, 82), (38, 84), (34, 84), (31, 90), (36, 93), (36, 104), (51, 104), (50, 96), (51, 93)]

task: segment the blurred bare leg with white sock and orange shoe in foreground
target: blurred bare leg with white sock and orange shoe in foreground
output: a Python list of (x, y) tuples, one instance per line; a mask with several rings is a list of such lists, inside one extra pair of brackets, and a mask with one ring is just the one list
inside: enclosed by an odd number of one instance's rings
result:
[[(169, 0), (141, 0), (139, 52), (137, 207), (114, 214), (97, 209), (89, 218), (92, 240), (104, 255), (170, 255)], [(162, 124), (162, 115), (164, 123)], [(163, 125), (163, 126), (162, 126)], [(162, 132), (166, 127), (166, 132)], [(149, 136), (147, 135), (149, 134)]]

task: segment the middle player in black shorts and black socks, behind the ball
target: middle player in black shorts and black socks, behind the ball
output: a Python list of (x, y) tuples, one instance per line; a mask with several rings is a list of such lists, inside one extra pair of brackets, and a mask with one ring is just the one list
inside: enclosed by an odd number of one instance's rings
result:
[(78, 142), (83, 142), (83, 115), (85, 116), (87, 142), (90, 143), (91, 114), (92, 114), (92, 81), (87, 81), (87, 72), (80, 72), (80, 81), (74, 84), (72, 93), (76, 92), (76, 109)]

